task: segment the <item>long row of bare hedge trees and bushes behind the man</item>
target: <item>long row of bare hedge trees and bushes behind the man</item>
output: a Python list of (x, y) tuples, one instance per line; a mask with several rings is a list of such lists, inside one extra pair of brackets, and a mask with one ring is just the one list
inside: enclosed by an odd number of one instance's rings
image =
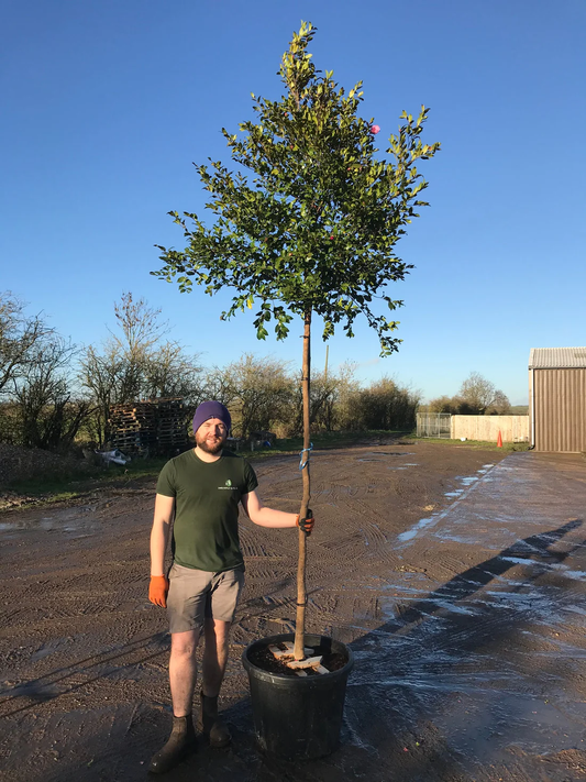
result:
[[(286, 362), (244, 354), (206, 368), (198, 354), (168, 339), (161, 310), (130, 293), (114, 305), (114, 320), (100, 344), (78, 346), (42, 313), (27, 316), (22, 301), (0, 293), (0, 442), (54, 451), (81, 442), (102, 448), (112, 405), (161, 397), (180, 397), (188, 410), (219, 399), (236, 436), (302, 431), (301, 378)], [(390, 377), (363, 386), (352, 364), (311, 377), (313, 431), (411, 429), (419, 401), (419, 393)]]

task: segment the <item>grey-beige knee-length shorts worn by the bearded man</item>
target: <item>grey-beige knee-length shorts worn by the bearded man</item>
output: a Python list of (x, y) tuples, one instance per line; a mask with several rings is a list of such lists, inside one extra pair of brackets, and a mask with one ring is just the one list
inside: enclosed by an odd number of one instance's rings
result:
[(200, 630), (204, 619), (233, 621), (243, 586), (241, 568), (208, 573), (174, 563), (167, 595), (170, 631)]

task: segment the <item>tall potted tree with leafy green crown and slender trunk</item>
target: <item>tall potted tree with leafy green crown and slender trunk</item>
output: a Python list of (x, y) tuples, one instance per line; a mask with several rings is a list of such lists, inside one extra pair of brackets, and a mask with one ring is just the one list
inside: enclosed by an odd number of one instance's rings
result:
[[(256, 123), (225, 129), (232, 159), (198, 167), (206, 205), (214, 216), (207, 225), (196, 213), (169, 212), (181, 227), (184, 251), (162, 252), (164, 266), (153, 274), (189, 291), (194, 282), (209, 295), (233, 288), (231, 318), (255, 302), (258, 339), (274, 321), (284, 339), (294, 318), (303, 320), (303, 496), (310, 498), (310, 337), (311, 320), (323, 320), (323, 339), (342, 324), (349, 337), (363, 315), (379, 338), (382, 355), (398, 349), (397, 322), (379, 315), (373, 299), (392, 312), (402, 302), (385, 286), (411, 268), (395, 254), (406, 225), (417, 217), (427, 187), (416, 164), (434, 155), (439, 144), (423, 144), (428, 109), (417, 119), (403, 112), (398, 135), (390, 135), (380, 159), (375, 147), (378, 126), (358, 115), (362, 82), (345, 93), (333, 71), (317, 70), (308, 53), (316, 29), (302, 23), (284, 54), (279, 75), (285, 95), (273, 101), (252, 96)], [(303, 658), (306, 538), (299, 532), (298, 610), (295, 656)]]

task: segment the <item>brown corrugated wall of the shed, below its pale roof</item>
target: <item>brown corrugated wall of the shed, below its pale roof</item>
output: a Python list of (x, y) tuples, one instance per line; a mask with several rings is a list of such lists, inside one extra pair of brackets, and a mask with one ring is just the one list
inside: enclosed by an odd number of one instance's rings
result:
[(535, 451), (586, 451), (586, 368), (534, 372)]

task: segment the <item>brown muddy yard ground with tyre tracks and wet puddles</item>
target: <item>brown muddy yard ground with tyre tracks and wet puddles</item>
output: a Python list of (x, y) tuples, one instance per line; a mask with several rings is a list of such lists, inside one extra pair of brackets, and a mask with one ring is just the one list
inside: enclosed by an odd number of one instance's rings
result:
[[(242, 520), (247, 583), (223, 708), (184, 782), (586, 779), (586, 462), (382, 441), (312, 456), (308, 631), (351, 645), (342, 747), (256, 750), (244, 647), (292, 629), (297, 538)], [(256, 465), (295, 511), (298, 460)], [(154, 482), (0, 515), (0, 779), (134, 782), (170, 723), (165, 613), (146, 599)], [(584, 526), (583, 526), (584, 525)]]

